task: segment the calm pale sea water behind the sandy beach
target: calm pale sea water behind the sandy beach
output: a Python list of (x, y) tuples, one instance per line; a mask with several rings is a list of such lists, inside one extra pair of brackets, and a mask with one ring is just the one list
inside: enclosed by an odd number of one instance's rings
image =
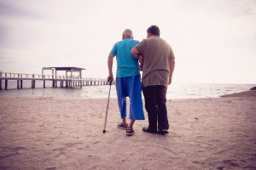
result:
[[(246, 91), (255, 84), (196, 84), (173, 83), (167, 90), (168, 99), (195, 99), (219, 97), (224, 94), (233, 94)], [(3, 83), (4, 87), (4, 83)], [(42, 82), (36, 82), (35, 89), (31, 89), (31, 81), (23, 82), (24, 89), (15, 89), (16, 82), (9, 81), (9, 90), (1, 90), (0, 98), (6, 97), (32, 97), (53, 99), (96, 99), (108, 98), (109, 86), (84, 86), (83, 88), (43, 88)], [(115, 86), (111, 87), (111, 98), (116, 98)]]

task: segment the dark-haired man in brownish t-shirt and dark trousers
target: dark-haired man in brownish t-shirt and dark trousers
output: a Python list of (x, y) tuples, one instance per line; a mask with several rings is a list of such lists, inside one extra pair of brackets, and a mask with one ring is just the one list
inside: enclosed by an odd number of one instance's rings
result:
[(143, 127), (143, 131), (165, 134), (169, 128), (166, 90), (172, 82), (175, 58), (170, 45), (160, 38), (158, 26), (150, 26), (147, 33), (147, 39), (131, 49), (131, 54), (136, 59), (141, 54), (144, 60), (142, 82), (149, 126)]

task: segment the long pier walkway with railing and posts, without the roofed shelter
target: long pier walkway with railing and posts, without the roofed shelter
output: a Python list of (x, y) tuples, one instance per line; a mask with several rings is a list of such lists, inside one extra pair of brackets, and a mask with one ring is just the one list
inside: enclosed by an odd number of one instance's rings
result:
[[(12, 73), (12, 72), (2, 72), (0, 71), (0, 89), (2, 88), (2, 80), (5, 81), (4, 89), (8, 89), (8, 81), (17, 81), (17, 88), (23, 88), (23, 80), (32, 81), (32, 88), (35, 88), (36, 81), (43, 81), (44, 88), (45, 82), (51, 81), (52, 87), (57, 88), (58, 84), (61, 88), (72, 88), (72, 87), (83, 87), (83, 86), (99, 86), (108, 85), (107, 79), (105, 78), (92, 78), (92, 77), (79, 77), (79, 76), (52, 76), (52, 75), (38, 75), (38, 74), (22, 74), (22, 73)], [(114, 83), (114, 82), (113, 82)], [(64, 85), (65, 84), (65, 85)]]

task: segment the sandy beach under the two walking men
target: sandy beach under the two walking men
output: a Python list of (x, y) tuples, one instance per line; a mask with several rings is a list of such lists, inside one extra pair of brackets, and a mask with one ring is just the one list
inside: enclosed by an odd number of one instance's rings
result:
[(0, 98), (0, 169), (256, 169), (256, 98), (239, 96), (168, 100), (170, 133), (132, 137), (116, 99), (103, 134), (107, 99)]

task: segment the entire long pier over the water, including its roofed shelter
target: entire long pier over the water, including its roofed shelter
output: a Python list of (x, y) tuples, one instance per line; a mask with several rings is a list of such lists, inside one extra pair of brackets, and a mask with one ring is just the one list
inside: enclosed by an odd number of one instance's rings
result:
[[(44, 75), (44, 70), (52, 70), (52, 75)], [(57, 75), (57, 71), (66, 69), (66, 75)], [(73, 71), (79, 71), (79, 76), (73, 76)], [(68, 72), (70, 75), (68, 75)], [(43, 88), (46, 88), (46, 82), (50, 81), (52, 88), (73, 88), (83, 86), (101, 86), (108, 85), (107, 79), (82, 77), (82, 70), (77, 67), (44, 67), (42, 75), (21, 74), (0, 71), (0, 90), (8, 89), (9, 80), (17, 82), (17, 89), (23, 88), (23, 81), (31, 81), (31, 88), (36, 88), (36, 82), (43, 81)], [(4, 87), (2, 86), (4, 81)], [(114, 82), (113, 82), (114, 83)]]

